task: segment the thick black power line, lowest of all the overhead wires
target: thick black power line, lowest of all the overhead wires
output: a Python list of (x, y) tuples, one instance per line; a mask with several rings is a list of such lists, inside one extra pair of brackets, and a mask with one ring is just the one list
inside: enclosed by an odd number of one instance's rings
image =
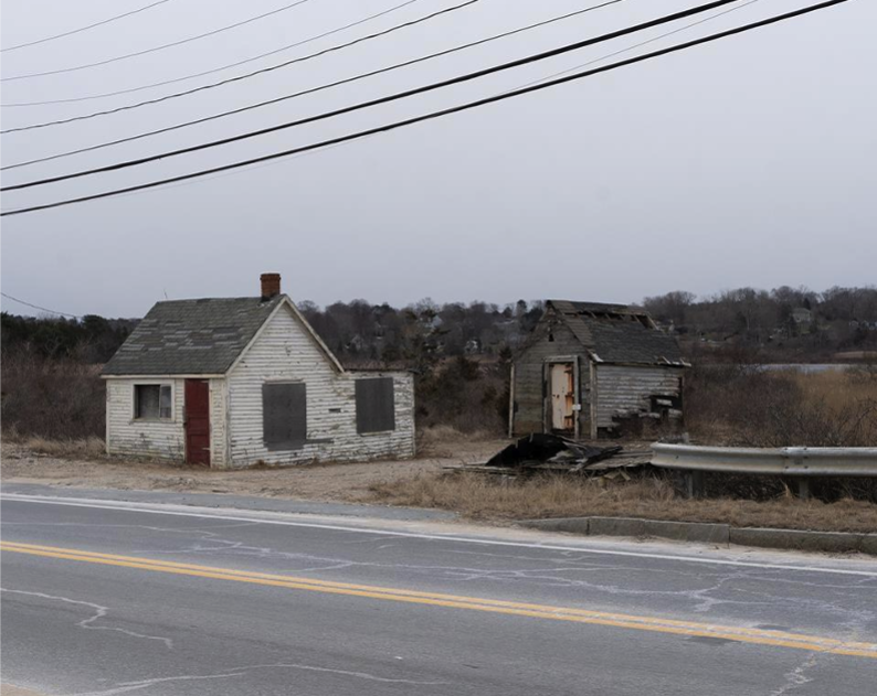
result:
[(524, 88), (520, 88), (520, 89), (516, 89), (514, 92), (509, 92), (509, 93), (505, 93), (505, 94), (500, 94), (500, 95), (494, 95), (494, 96), (486, 97), (486, 98), (483, 98), (483, 99), (478, 99), (478, 100), (475, 100), (475, 101), (469, 101), (469, 103), (462, 104), (462, 105), (458, 105), (458, 106), (454, 106), (454, 107), (451, 107), (451, 108), (442, 109), (440, 111), (432, 111), (430, 114), (415, 116), (413, 118), (408, 118), (408, 119), (395, 121), (395, 122), (392, 122), (392, 124), (385, 124), (383, 126), (378, 126), (377, 128), (370, 128), (370, 129), (367, 129), (367, 130), (360, 130), (358, 132), (348, 133), (346, 136), (340, 136), (340, 137), (337, 137), (337, 138), (331, 138), (329, 140), (323, 140), (320, 142), (314, 142), (314, 143), (310, 143), (310, 144), (300, 146), (298, 148), (293, 148), (293, 149), (289, 149), (289, 150), (283, 150), (283, 151), (279, 151), (279, 152), (274, 152), (274, 153), (271, 153), (271, 154), (265, 154), (265, 156), (262, 156), (262, 157), (252, 158), (252, 159), (249, 159), (249, 160), (242, 160), (242, 161), (239, 161), (239, 162), (233, 162), (231, 164), (223, 164), (221, 167), (213, 167), (211, 169), (203, 169), (203, 170), (199, 170), (199, 171), (196, 171), (196, 172), (190, 172), (188, 174), (181, 174), (181, 175), (178, 175), (178, 176), (170, 176), (168, 179), (160, 179), (160, 180), (157, 180), (157, 181), (150, 181), (150, 182), (142, 183), (142, 184), (137, 184), (137, 185), (134, 185), (134, 186), (127, 186), (125, 189), (116, 189), (116, 190), (113, 190), (113, 191), (105, 191), (103, 193), (95, 193), (95, 194), (91, 194), (91, 195), (80, 196), (80, 197), (76, 197), (76, 199), (66, 199), (66, 200), (62, 200), (62, 201), (56, 201), (54, 203), (45, 203), (45, 204), (42, 204), (42, 205), (33, 205), (33, 206), (29, 206), (29, 207), (22, 207), (22, 208), (12, 210), (12, 211), (4, 211), (4, 212), (0, 213), (0, 215), (1, 216), (21, 215), (23, 213), (32, 213), (32, 212), (35, 212), (35, 211), (42, 211), (42, 210), (47, 210), (47, 208), (53, 208), (53, 207), (60, 207), (60, 206), (63, 206), (63, 205), (72, 205), (72, 204), (75, 204), (75, 203), (84, 203), (86, 201), (95, 201), (95, 200), (98, 200), (98, 199), (106, 199), (106, 197), (110, 197), (110, 196), (115, 196), (115, 195), (120, 195), (120, 194), (124, 194), (124, 193), (130, 193), (130, 192), (134, 192), (134, 191), (154, 189), (156, 186), (161, 186), (161, 185), (166, 185), (166, 184), (169, 184), (169, 183), (176, 183), (178, 181), (187, 181), (187, 180), (190, 180), (190, 179), (197, 179), (197, 178), (200, 178), (200, 176), (205, 176), (208, 174), (214, 174), (216, 172), (239, 169), (241, 167), (249, 167), (251, 164), (256, 164), (258, 162), (266, 162), (266, 161), (279, 159), (279, 158), (283, 158), (283, 157), (288, 157), (290, 154), (296, 154), (296, 153), (299, 153), (299, 152), (307, 152), (307, 151), (310, 151), (310, 150), (316, 150), (316, 149), (319, 149), (319, 148), (324, 148), (324, 147), (327, 147), (327, 146), (332, 146), (332, 144), (340, 143), (340, 142), (347, 142), (347, 141), (350, 141), (350, 140), (357, 140), (359, 138), (364, 138), (367, 136), (371, 136), (371, 135), (374, 135), (374, 133), (389, 132), (389, 131), (395, 130), (398, 128), (404, 128), (406, 126), (412, 126), (414, 124), (419, 124), (419, 122), (422, 122), (422, 121), (431, 120), (431, 119), (434, 119), (434, 118), (441, 118), (441, 117), (444, 117), (444, 116), (448, 116), (451, 114), (465, 111), (465, 110), (468, 110), (468, 109), (477, 108), (477, 107), (485, 106), (487, 104), (493, 104), (493, 103), (496, 103), (496, 101), (503, 101), (505, 99), (510, 99), (513, 97), (517, 97), (517, 96), (521, 96), (521, 95), (525, 95), (525, 94), (529, 94), (531, 92), (539, 92), (539, 90), (542, 90), (542, 89), (547, 89), (549, 87), (553, 87), (556, 85), (564, 84), (564, 83), (568, 83), (568, 82), (573, 82), (573, 81), (577, 81), (577, 79), (582, 79), (582, 78), (585, 78), (585, 77), (590, 77), (592, 75), (598, 75), (600, 73), (606, 73), (606, 72), (610, 72), (610, 71), (613, 71), (613, 69), (617, 69), (620, 67), (624, 67), (624, 66), (627, 66), (627, 65), (633, 65), (635, 63), (641, 63), (643, 61), (648, 61), (648, 60), (652, 60), (652, 58), (656, 58), (656, 57), (662, 56), (662, 55), (676, 53), (678, 51), (685, 51), (687, 49), (690, 49), (690, 47), (694, 47), (694, 46), (697, 46), (697, 45), (700, 45), (700, 44), (709, 43), (709, 42), (712, 42), (712, 41), (718, 41), (720, 39), (726, 39), (728, 36), (732, 36), (732, 35), (736, 35), (736, 34), (741, 34), (743, 32), (752, 31), (754, 29), (767, 26), (769, 24), (775, 24), (778, 22), (782, 22), (782, 21), (790, 20), (790, 19), (796, 18), (796, 17), (801, 17), (803, 14), (815, 12), (817, 10), (824, 10), (826, 8), (830, 8), (830, 7), (833, 7), (833, 6), (836, 6), (836, 4), (841, 4), (841, 3), (844, 3), (844, 2), (848, 2), (848, 1), (849, 0), (826, 0), (825, 2), (820, 2), (820, 3), (816, 3), (816, 4), (812, 4), (812, 6), (802, 8), (800, 10), (794, 10), (792, 12), (786, 12), (784, 14), (778, 14), (778, 15), (774, 15), (774, 17), (758, 21), (758, 22), (752, 22), (750, 24), (744, 24), (742, 26), (737, 26), (735, 29), (730, 29), (730, 30), (727, 30), (727, 31), (723, 31), (723, 32), (709, 34), (708, 36), (702, 36), (700, 39), (695, 39), (693, 41), (688, 41), (688, 42), (685, 42), (685, 43), (675, 44), (675, 45), (668, 46), (666, 49), (661, 49), (658, 51), (653, 51), (652, 53), (644, 53), (642, 55), (634, 56), (632, 58), (627, 58), (627, 60), (624, 60), (624, 61), (619, 61), (616, 63), (610, 63), (609, 65), (604, 65), (604, 66), (601, 66), (601, 67), (595, 67), (595, 68), (590, 69), (590, 71), (584, 71), (584, 72), (581, 72), (581, 73), (575, 73), (573, 75), (567, 75), (567, 76), (563, 76), (563, 77), (558, 77), (556, 79), (552, 79), (552, 81), (549, 81), (549, 82), (545, 82), (545, 83), (541, 83), (541, 84), (538, 84), (538, 85), (530, 85), (529, 87), (524, 87)]

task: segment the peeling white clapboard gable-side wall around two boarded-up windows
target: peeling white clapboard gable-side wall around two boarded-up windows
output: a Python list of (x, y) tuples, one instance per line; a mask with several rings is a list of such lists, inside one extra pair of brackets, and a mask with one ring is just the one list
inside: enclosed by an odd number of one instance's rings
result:
[[(388, 376), (395, 392), (395, 430), (359, 435), (355, 379)], [(302, 382), (307, 388), (307, 442), (268, 450), (263, 441), (262, 385)], [(414, 456), (414, 382), (409, 373), (339, 374), (285, 306), (268, 321), (228, 377), (228, 458), (222, 465), (263, 461), (364, 461)]]

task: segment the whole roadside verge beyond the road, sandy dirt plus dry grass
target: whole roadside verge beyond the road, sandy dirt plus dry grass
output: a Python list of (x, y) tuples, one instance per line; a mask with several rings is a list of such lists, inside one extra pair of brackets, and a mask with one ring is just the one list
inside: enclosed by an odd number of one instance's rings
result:
[(40, 452), (23, 443), (4, 441), (0, 475), (4, 483), (437, 507), (494, 524), (525, 517), (606, 515), (793, 529), (877, 531), (877, 505), (849, 499), (831, 504), (801, 501), (791, 494), (763, 502), (733, 497), (687, 500), (666, 478), (607, 481), (542, 477), (509, 482), (500, 477), (445, 470), (484, 462), (506, 445), (499, 439), (440, 438), (427, 446), (425, 456), (413, 461), (216, 471), (106, 458), (94, 454), (101, 451), (94, 447), (85, 448), (91, 456), (76, 457), (70, 451), (45, 453), (63, 448), (63, 443), (43, 441)]

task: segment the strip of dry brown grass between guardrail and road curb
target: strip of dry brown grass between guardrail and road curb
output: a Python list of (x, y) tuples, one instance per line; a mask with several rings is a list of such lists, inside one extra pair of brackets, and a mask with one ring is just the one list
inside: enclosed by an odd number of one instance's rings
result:
[(740, 527), (828, 532), (877, 531), (877, 505), (843, 499), (826, 504), (791, 494), (767, 502), (687, 500), (665, 480), (643, 478), (601, 483), (599, 479), (543, 477), (503, 482), (476, 473), (422, 474), (371, 486), (376, 502), (453, 510), (473, 520), (539, 517), (646, 517), (720, 522)]

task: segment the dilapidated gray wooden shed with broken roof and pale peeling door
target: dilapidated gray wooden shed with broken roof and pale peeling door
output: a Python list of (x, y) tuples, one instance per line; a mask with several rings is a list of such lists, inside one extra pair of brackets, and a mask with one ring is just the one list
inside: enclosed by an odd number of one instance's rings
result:
[(643, 311), (549, 300), (513, 363), (509, 432), (598, 438), (680, 420), (686, 366)]

